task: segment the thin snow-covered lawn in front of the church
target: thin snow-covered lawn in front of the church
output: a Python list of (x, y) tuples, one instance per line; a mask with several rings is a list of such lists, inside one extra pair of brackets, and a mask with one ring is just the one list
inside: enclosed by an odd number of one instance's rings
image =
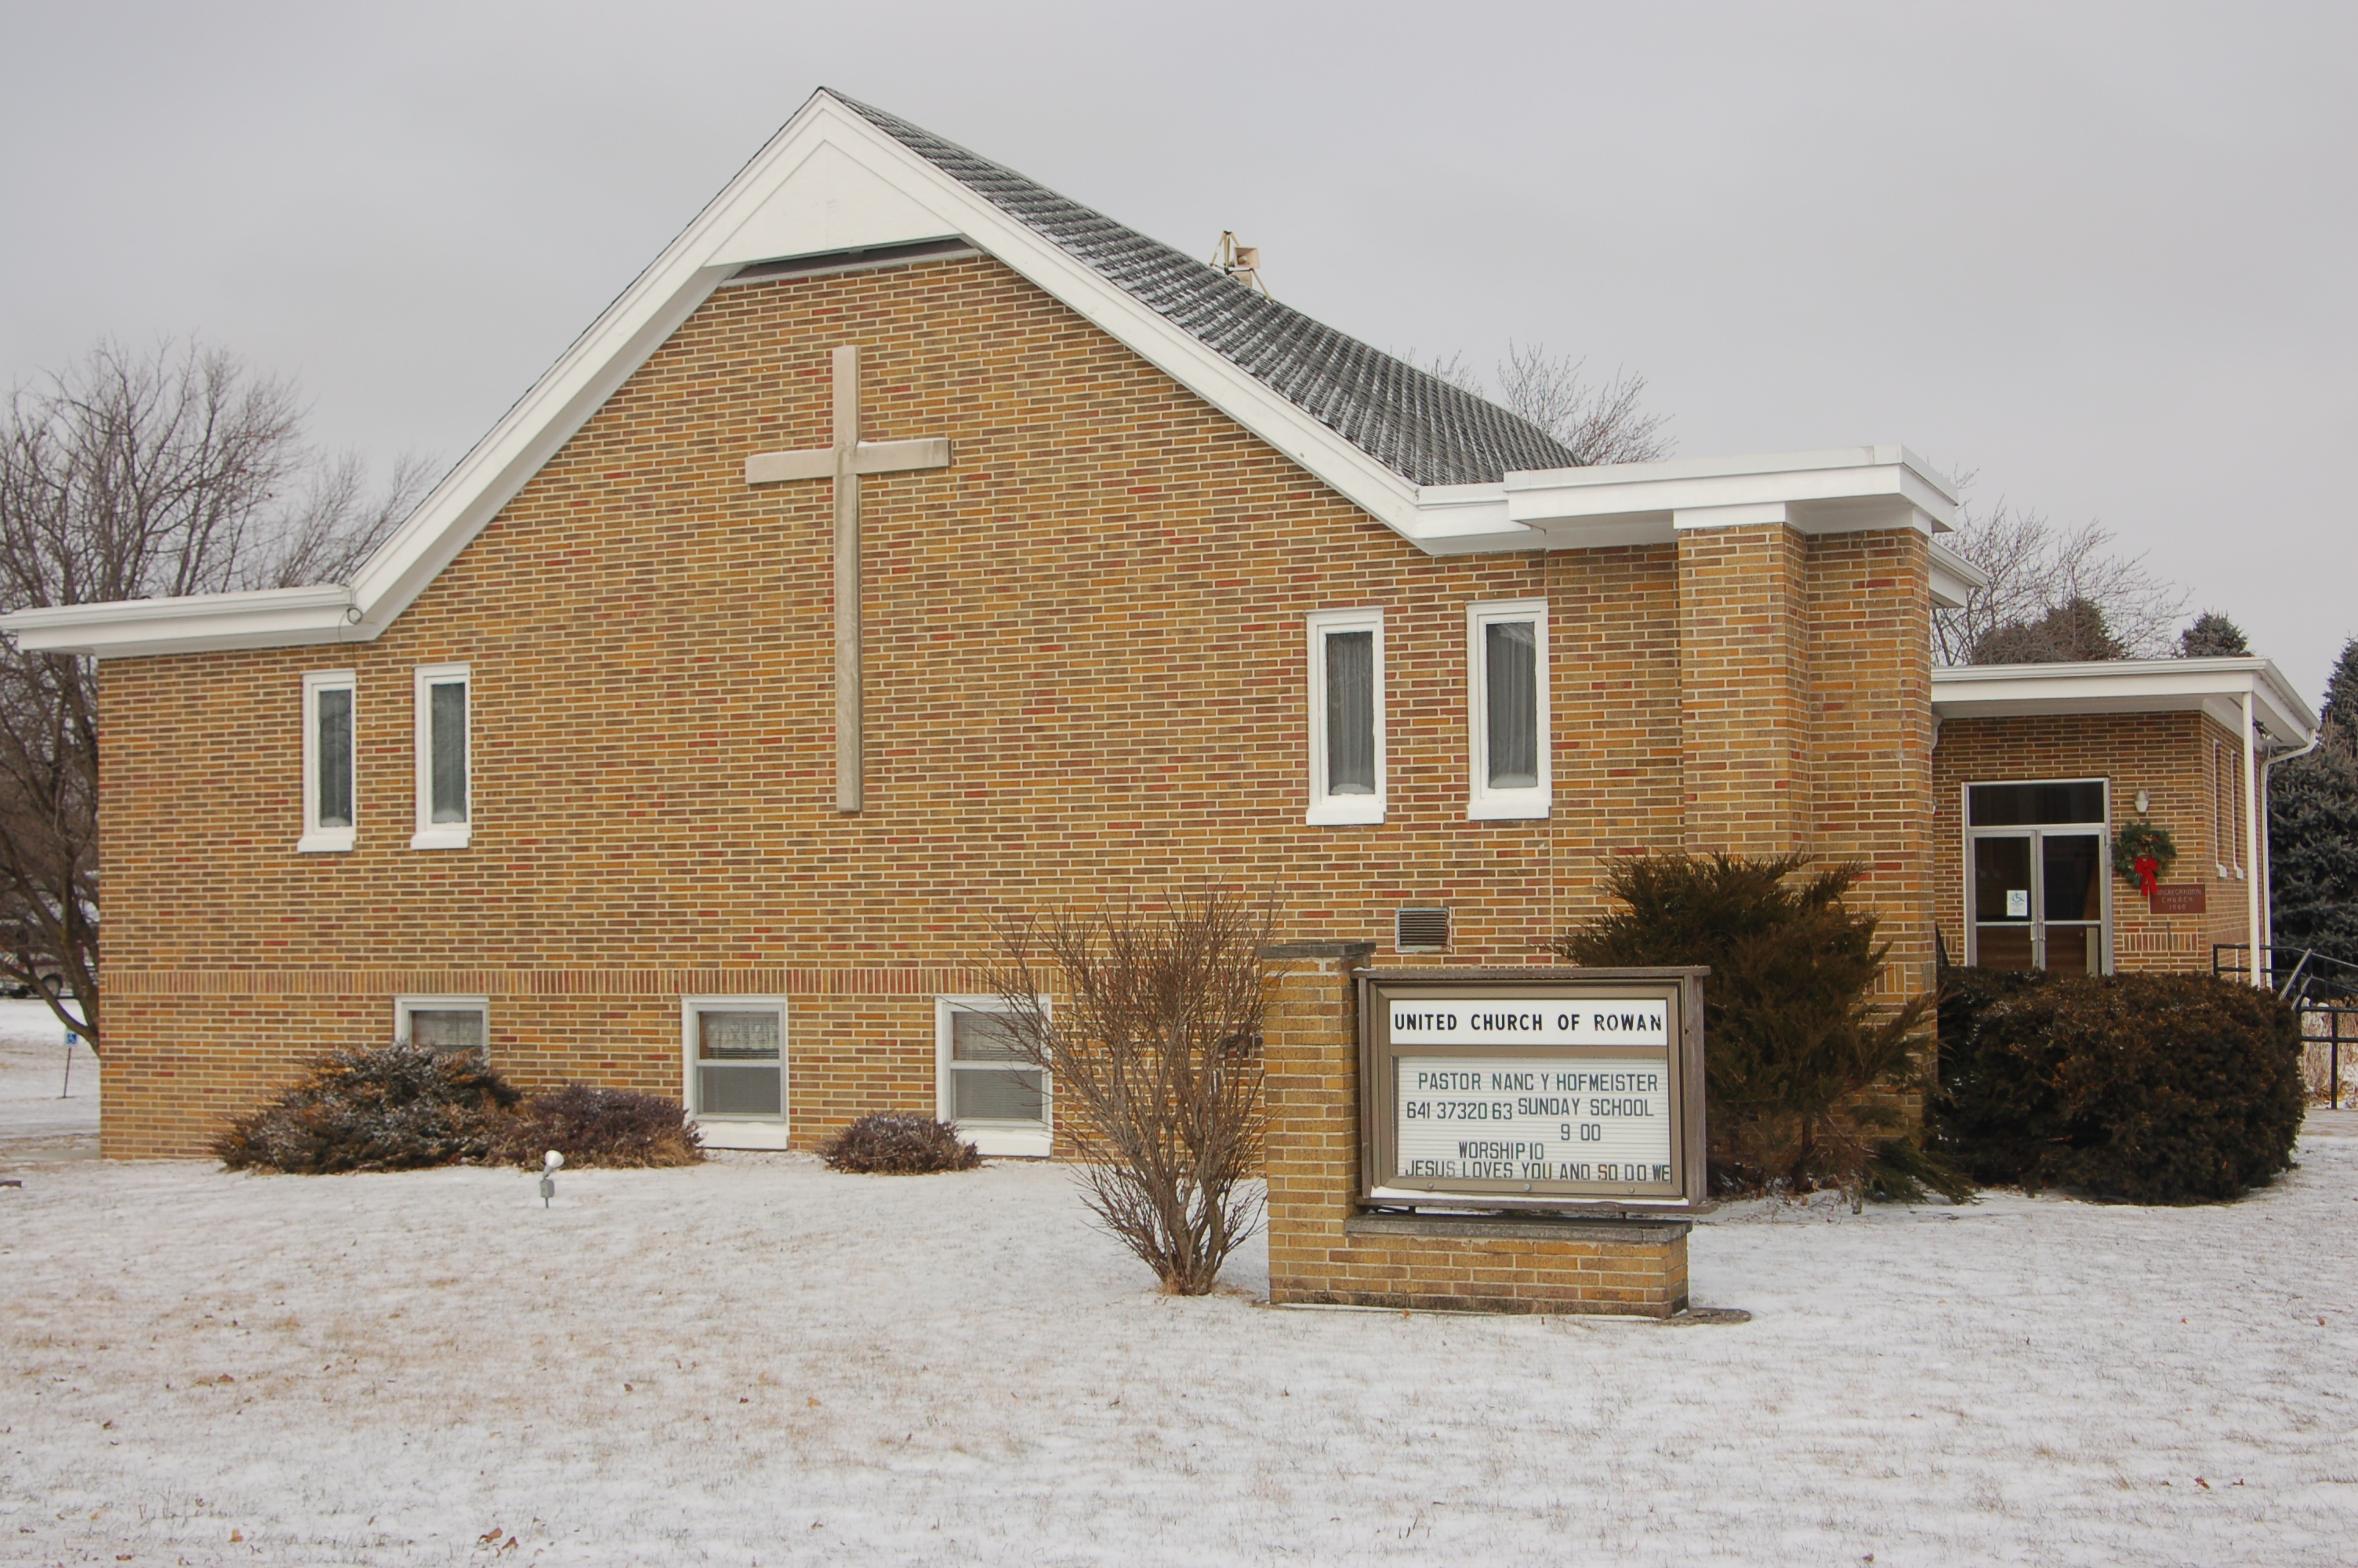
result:
[(1721, 1214), (1738, 1327), (1165, 1299), (1023, 1165), (0, 1174), (5, 1563), (2358, 1559), (2358, 1113), (2233, 1207)]

